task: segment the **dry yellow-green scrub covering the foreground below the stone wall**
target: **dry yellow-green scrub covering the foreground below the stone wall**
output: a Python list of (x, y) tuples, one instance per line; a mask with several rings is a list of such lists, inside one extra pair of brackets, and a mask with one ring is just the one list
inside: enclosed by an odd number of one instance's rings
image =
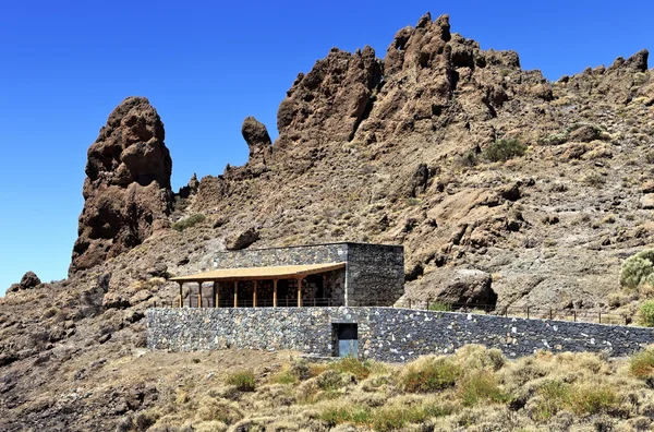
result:
[[(195, 368), (203, 365), (204, 360)], [(247, 370), (249, 380), (264, 383), (254, 392), (235, 391), (232, 384), (195, 385), (199, 379), (195, 377), (192, 385), (162, 394), (162, 406), (140, 415), (157, 431), (178, 430), (190, 421), (197, 430), (344, 425), (397, 431), (431, 424), (437, 431), (473, 425), (535, 431), (559, 430), (561, 419), (568, 422), (566, 430), (596, 430), (598, 418), (618, 428), (637, 417), (644, 418), (639, 430), (653, 425), (647, 412), (654, 393), (647, 386), (654, 373), (654, 347), (628, 361), (545, 351), (507, 360), (497, 349), (470, 345), (450, 356), (422, 357), (408, 364), (353, 358), (294, 360), (280, 364), (268, 380), (262, 371)], [(230, 377), (242, 372), (228, 373), (226, 383), (233, 383)], [(125, 419), (134, 428), (135, 415)]]

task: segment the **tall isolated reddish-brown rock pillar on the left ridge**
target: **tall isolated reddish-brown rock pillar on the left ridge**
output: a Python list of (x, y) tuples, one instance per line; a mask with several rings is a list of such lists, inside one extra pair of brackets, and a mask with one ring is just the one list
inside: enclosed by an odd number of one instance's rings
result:
[(170, 213), (172, 160), (164, 123), (144, 97), (129, 97), (88, 148), (84, 209), (69, 274), (138, 245)]

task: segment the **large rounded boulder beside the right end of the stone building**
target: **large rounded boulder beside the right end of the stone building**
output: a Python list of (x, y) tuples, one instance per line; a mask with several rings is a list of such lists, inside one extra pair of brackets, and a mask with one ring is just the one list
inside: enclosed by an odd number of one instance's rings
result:
[(469, 268), (438, 268), (407, 284), (405, 297), (412, 301), (443, 302), (494, 309), (497, 293), (488, 273)]

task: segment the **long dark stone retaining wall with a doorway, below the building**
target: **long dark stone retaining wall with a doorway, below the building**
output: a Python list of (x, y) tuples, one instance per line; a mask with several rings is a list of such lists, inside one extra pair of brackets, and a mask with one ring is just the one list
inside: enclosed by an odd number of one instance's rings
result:
[(335, 353), (334, 327), (358, 324), (359, 357), (407, 361), (467, 344), (499, 348), (509, 358), (537, 349), (631, 355), (654, 343), (651, 328), (542, 321), (393, 308), (149, 309), (153, 349), (291, 349)]

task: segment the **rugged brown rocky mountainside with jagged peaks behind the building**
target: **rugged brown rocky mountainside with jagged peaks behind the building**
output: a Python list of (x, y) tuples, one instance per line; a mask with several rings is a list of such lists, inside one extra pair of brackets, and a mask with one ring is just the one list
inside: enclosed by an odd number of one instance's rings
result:
[(0, 302), (0, 427), (86, 430), (157, 404), (152, 382), (111, 376), (143, 353), (145, 310), (175, 299), (167, 278), (226, 248), (400, 243), (402, 301), (455, 299), (452, 278), (479, 302), (633, 312), (616, 293), (654, 240), (652, 75), (641, 51), (548, 82), (426, 14), (383, 58), (332, 49), (288, 91), (275, 143), (245, 119), (247, 164), (179, 194), (156, 110), (125, 99), (88, 151), (69, 279)]

